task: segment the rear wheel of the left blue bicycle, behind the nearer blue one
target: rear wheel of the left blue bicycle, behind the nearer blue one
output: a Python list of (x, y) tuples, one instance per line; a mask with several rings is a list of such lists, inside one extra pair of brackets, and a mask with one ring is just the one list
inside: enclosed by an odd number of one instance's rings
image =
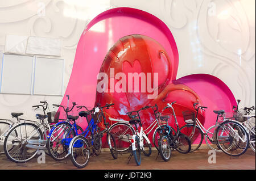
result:
[[(72, 128), (72, 125), (67, 123), (67, 122), (63, 122), (60, 123), (59, 125), (57, 125), (51, 135), (49, 136), (49, 138), (47, 139), (47, 149), (48, 149), (48, 154), (51, 156), (51, 158), (53, 158), (55, 161), (61, 161), (63, 159), (65, 159), (65, 157), (67, 157), (68, 154), (68, 146), (65, 146), (62, 143), (63, 138), (59, 138), (59, 140), (57, 141), (57, 144), (59, 144), (60, 146), (62, 146), (63, 150), (59, 150), (59, 148), (55, 148), (53, 149), (53, 142), (51, 140), (51, 138), (54, 136), (53, 134), (55, 133), (55, 129), (56, 131), (58, 131), (57, 128), (63, 126), (63, 129), (66, 129), (64, 132), (64, 134), (67, 134), (64, 136), (64, 138), (73, 138), (76, 136), (76, 132), (75, 130)], [(59, 128), (60, 129), (60, 128)], [(57, 150), (56, 150), (57, 149)], [(59, 151), (59, 152), (58, 152)]]

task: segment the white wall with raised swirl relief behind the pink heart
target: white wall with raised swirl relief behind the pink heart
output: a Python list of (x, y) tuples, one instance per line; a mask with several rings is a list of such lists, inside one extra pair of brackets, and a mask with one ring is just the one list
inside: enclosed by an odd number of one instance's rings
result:
[[(195, 73), (212, 74), (242, 100), (241, 106), (255, 105), (254, 0), (0, 1), (0, 53), (5, 48), (6, 34), (60, 38), (65, 90), (76, 45), (86, 23), (113, 7), (141, 9), (167, 24), (179, 50), (177, 78)], [(0, 117), (9, 118), (10, 112), (16, 111), (33, 119), (32, 105), (40, 100), (60, 103), (61, 99), (60, 96), (0, 94)]]

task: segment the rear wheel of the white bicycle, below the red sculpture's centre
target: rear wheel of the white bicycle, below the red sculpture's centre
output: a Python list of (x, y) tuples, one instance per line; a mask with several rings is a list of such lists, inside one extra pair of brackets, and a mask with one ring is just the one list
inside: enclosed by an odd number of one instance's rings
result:
[[(112, 134), (116, 140), (115, 143), (117, 146), (117, 151), (124, 152), (127, 151), (131, 146), (131, 142), (129, 142), (127, 138), (132, 137), (135, 134), (135, 131), (134, 128), (128, 123), (115, 123), (109, 128), (109, 133)], [(110, 137), (108, 137), (108, 141), (110, 141)]]

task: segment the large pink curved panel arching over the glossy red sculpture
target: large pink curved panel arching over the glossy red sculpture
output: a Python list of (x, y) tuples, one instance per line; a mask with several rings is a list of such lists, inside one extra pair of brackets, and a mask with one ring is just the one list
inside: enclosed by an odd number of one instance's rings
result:
[[(178, 52), (174, 37), (166, 24), (148, 12), (127, 7), (115, 8), (94, 18), (80, 37), (65, 91), (65, 95), (71, 98), (70, 102), (94, 106), (97, 74), (104, 57), (117, 40), (131, 34), (142, 34), (158, 40), (171, 59), (174, 68), (172, 78), (176, 78)], [(61, 105), (66, 106), (65, 104), (66, 96), (61, 102)]]

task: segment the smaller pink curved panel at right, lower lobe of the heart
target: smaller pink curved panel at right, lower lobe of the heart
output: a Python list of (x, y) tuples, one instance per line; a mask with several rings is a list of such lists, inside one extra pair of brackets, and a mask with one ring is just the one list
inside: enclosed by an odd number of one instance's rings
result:
[(193, 74), (181, 77), (174, 81), (190, 87), (200, 96), (205, 110), (204, 128), (208, 129), (215, 124), (217, 115), (213, 110), (225, 110), (233, 112), (233, 106), (237, 106), (236, 98), (228, 86), (219, 78), (209, 74)]

